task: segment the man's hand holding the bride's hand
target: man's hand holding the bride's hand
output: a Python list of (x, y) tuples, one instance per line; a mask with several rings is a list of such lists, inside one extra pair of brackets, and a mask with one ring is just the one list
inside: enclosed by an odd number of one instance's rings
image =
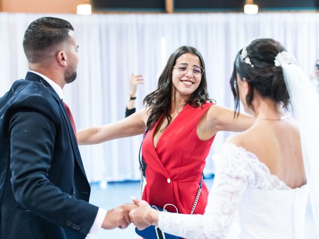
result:
[(104, 218), (102, 228), (106, 230), (127, 228), (131, 223), (129, 212), (136, 207), (134, 204), (124, 204), (109, 210)]

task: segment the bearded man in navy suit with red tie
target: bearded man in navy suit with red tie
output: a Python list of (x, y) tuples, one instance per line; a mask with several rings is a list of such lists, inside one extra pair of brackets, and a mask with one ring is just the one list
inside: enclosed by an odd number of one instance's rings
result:
[(23, 49), (30, 71), (0, 98), (0, 239), (93, 239), (101, 227), (126, 228), (134, 206), (106, 211), (88, 203), (74, 121), (62, 101), (78, 64), (72, 25), (39, 18)]

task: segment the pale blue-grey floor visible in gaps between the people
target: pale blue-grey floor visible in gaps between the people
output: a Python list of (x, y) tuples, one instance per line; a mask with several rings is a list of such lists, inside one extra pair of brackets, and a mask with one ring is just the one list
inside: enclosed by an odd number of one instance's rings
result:
[[(213, 180), (205, 180), (207, 187), (210, 188)], [(140, 182), (117, 182), (108, 183), (106, 189), (101, 189), (99, 184), (91, 185), (90, 202), (104, 209), (111, 209), (124, 203), (131, 202), (131, 196), (140, 196)], [(311, 207), (307, 207), (305, 223), (305, 239), (317, 239), (315, 235), (315, 224), (312, 219)], [(131, 224), (127, 229), (100, 230), (97, 239), (138, 239), (135, 234), (135, 228)]]

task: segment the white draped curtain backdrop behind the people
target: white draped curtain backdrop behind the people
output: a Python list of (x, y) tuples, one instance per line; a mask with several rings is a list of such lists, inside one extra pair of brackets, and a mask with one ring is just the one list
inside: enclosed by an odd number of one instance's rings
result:
[[(48, 14), (45, 14), (48, 15)], [(0, 95), (23, 78), (27, 61), (22, 39), (28, 24), (44, 14), (0, 13)], [(163, 62), (182, 45), (196, 47), (206, 64), (209, 96), (233, 108), (229, 78), (237, 52), (254, 38), (270, 37), (292, 52), (310, 74), (319, 57), (318, 13), (51, 14), (74, 26), (79, 42), (78, 78), (64, 88), (77, 128), (124, 118), (132, 72), (144, 74), (137, 108), (156, 89)], [(165, 38), (165, 47), (161, 45)], [(162, 52), (162, 50), (164, 52)], [(219, 132), (211, 153), (229, 133)], [(89, 181), (139, 179), (141, 136), (81, 146)], [(205, 173), (213, 172), (210, 156)]]

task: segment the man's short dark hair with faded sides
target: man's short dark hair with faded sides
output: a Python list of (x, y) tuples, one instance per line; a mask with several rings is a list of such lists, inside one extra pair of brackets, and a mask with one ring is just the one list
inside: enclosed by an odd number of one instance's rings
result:
[(40, 17), (30, 23), (24, 32), (23, 50), (30, 63), (43, 60), (46, 50), (69, 38), (73, 26), (67, 20), (56, 17)]

